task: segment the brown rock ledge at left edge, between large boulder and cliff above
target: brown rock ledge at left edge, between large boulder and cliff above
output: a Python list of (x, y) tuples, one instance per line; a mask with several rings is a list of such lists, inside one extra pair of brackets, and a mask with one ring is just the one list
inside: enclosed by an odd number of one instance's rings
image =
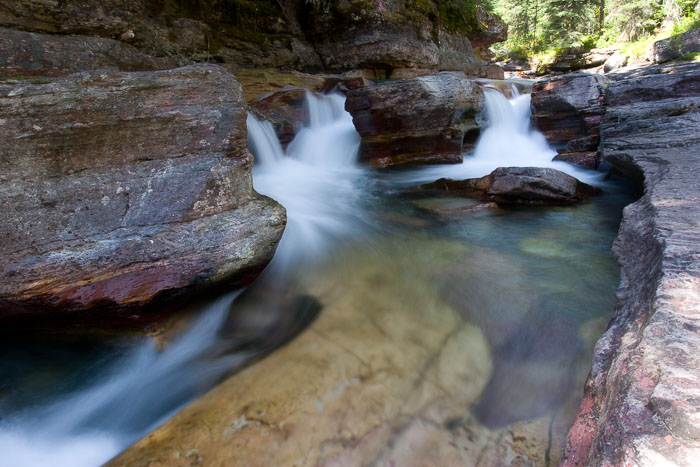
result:
[(0, 77), (60, 76), (87, 70), (149, 71), (176, 66), (174, 59), (151, 57), (112, 39), (0, 28)]

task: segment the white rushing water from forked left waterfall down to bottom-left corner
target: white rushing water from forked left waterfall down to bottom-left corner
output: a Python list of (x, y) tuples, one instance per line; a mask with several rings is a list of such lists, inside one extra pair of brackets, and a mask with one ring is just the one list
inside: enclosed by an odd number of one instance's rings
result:
[[(288, 281), (293, 268), (340, 236), (357, 232), (364, 218), (357, 187), (363, 171), (355, 164), (360, 139), (344, 110), (344, 97), (309, 94), (307, 106), (309, 123), (286, 155), (269, 123), (248, 117), (250, 146), (258, 159), (255, 188), (283, 204), (288, 216), (275, 258), (256, 286)], [(221, 335), (238, 295), (209, 305), (165, 350), (148, 340), (91, 387), (2, 417), (0, 466), (96, 466), (145, 435), (253, 356), (227, 354), (230, 339)], [(274, 320), (275, 313), (252, 314)]]

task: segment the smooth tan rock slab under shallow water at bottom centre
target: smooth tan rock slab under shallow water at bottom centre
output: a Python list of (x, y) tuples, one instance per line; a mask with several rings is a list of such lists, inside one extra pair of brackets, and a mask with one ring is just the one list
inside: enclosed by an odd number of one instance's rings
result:
[[(336, 264), (299, 286), (324, 305), (306, 331), (189, 404), (108, 465), (556, 462), (575, 402), (546, 415), (531, 412), (527, 421), (513, 414), (517, 421), (492, 428), (470, 410), (492, 379), (489, 342), (431, 284), (437, 274), (467, 274), (474, 289), (484, 291), (493, 282), (488, 273), (522, 283), (525, 271), (507, 256), (480, 254), (475, 257), (459, 242), (419, 237), (338, 256)], [(488, 264), (488, 273), (475, 264)], [(392, 280), (405, 270), (415, 281)], [(330, 279), (339, 272), (342, 287)], [(502, 293), (522, 306), (522, 290)], [(479, 298), (488, 300), (486, 295)], [(510, 318), (508, 325), (523, 327), (522, 316)], [(524, 372), (542, 375), (538, 365), (523, 364)], [(544, 384), (550, 390), (550, 383), (540, 379), (535, 388)]]

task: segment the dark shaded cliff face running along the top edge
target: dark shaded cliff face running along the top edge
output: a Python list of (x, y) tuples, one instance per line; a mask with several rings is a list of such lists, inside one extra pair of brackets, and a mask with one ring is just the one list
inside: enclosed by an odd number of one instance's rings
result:
[[(99, 36), (143, 53), (305, 71), (496, 76), (480, 53), (506, 27), (473, 2), (431, 0), (8, 0), (0, 26)], [(453, 11), (454, 10), (454, 11)]]

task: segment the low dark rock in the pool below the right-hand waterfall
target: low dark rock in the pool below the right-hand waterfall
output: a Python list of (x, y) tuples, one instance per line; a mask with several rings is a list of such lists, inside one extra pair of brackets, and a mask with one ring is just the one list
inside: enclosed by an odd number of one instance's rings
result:
[(600, 191), (564, 172), (540, 167), (500, 167), (481, 178), (461, 181), (443, 178), (422, 188), (478, 194), (504, 205), (571, 204)]

